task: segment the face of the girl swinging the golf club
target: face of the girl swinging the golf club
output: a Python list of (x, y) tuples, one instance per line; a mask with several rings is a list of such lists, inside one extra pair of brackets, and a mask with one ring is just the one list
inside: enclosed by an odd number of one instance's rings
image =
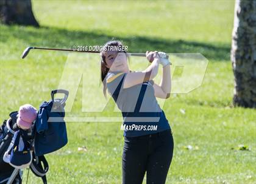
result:
[(116, 51), (107, 51), (105, 53), (106, 63), (109, 69), (113, 72), (122, 71), (126, 69), (127, 58), (126, 53), (116, 52)]

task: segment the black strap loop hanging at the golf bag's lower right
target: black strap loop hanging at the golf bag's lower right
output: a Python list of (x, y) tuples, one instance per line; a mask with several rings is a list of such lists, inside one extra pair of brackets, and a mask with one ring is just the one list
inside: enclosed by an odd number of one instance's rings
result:
[[(43, 163), (43, 166), (41, 163)], [(46, 172), (48, 172), (49, 165), (44, 155), (36, 157), (33, 152), (33, 159), (30, 164), (30, 169), (37, 177), (41, 177), (44, 184), (47, 184)]]

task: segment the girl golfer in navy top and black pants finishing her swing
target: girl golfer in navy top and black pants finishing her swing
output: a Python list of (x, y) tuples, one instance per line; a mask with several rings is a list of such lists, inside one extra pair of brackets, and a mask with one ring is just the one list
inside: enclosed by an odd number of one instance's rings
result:
[[(146, 52), (151, 63), (143, 71), (132, 71), (125, 51), (111, 50), (123, 46), (109, 41), (101, 52), (101, 80), (123, 115), (123, 183), (139, 184), (146, 174), (147, 183), (165, 183), (172, 160), (174, 142), (165, 113), (157, 98), (168, 98), (171, 92), (171, 70), (163, 52)], [(153, 78), (162, 66), (160, 84)]]

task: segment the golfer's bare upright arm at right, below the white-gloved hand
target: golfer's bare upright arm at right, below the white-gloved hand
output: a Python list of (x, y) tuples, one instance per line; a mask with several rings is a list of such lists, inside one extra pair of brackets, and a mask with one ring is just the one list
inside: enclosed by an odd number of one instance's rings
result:
[(153, 85), (155, 90), (155, 97), (157, 98), (169, 98), (171, 94), (171, 67), (169, 64), (163, 67), (163, 76), (160, 84)]

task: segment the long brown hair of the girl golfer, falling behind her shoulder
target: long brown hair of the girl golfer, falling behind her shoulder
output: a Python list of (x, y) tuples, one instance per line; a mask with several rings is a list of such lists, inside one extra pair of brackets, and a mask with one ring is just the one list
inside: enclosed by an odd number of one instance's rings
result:
[[(105, 52), (104, 51), (107, 50), (107, 48), (109, 46), (123, 46), (123, 44), (119, 40), (108, 41), (107, 43), (104, 44), (103, 49), (102, 49), (102, 51), (100, 53), (100, 55), (101, 55), (101, 81), (103, 83), (103, 94), (104, 94), (104, 97), (106, 97), (106, 90), (107, 90), (106, 75), (107, 75), (107, 73), (109, 71), (109, 68), (107, 67), (107, 63), (105, 61)], [(128, 55), (126, 55), (126, 56), (128, 57)], [(128, 59), (129, 59), (129, 57), (128, 57)]]

